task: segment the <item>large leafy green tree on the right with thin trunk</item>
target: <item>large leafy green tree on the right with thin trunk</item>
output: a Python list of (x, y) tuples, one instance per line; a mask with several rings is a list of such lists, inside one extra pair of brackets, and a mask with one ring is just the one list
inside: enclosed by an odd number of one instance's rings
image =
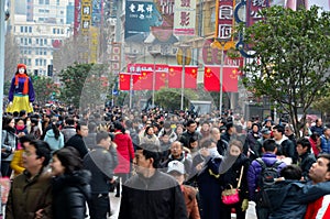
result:
[(282, 7), (263, 10), (261, 21), (243, 31), (255, 52), (244, 66), (244, 85), (255, 96), (270, 97), (290, 116), (299, 134), (298, 109), (307, 110), (328, 89), (330, 67), (330, 12), (319, 8), (293, 11)]

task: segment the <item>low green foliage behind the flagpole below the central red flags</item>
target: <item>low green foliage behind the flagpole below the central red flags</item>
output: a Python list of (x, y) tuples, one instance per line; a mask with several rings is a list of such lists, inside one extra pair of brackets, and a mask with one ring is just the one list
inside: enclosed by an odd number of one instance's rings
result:
[[(198, 95), (193, 89), (184, 90), (184, 109), (188, 107), (189, 100), (197, 100)], [(155, 92), (155, 105), (166, 110), (177, 110), (182, 102), (182, 90), (174, 88), (162, 88)]]

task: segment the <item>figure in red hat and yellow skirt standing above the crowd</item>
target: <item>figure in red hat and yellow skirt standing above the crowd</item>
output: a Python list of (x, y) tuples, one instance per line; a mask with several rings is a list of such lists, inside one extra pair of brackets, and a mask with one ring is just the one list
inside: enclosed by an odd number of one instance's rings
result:
[(26, 73), (26, 65), (19, 64), (15, 76), (11, 80), (9, 90), (9, 105), (7, 112), (20, 112), (25, 110), (33, 112), (32, 102), (34, 101), (34, 89), (31, 78)]

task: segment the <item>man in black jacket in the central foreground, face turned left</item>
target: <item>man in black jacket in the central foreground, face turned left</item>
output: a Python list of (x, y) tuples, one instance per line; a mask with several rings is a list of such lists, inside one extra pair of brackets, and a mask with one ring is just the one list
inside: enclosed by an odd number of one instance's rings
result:
[(133, 160), (136, 175), (122, 188), (119, 219), (187, 219), (187, 210), (178, 183), (157, 171), (161, 149), (141, 144)]

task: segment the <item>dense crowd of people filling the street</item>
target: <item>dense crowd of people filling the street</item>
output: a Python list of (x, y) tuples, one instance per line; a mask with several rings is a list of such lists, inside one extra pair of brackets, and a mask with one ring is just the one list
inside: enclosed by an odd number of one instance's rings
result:
[[(12, 180), (6, 218), (330, 218), (330, 128), (297, 136), (271, 117), (245, 121), (158, 108), (34, 106), (3, 116), (1, 175)], [(261, 197), (265, 168), (278, 174)], [(276, 183), (275, 183), (276, 182)], [(227, 204), (224, 190), (239, 200)], [(88, 209), (86, 208), (88, 206)], [(328, 213), (328, 215), (327, 215)]]

